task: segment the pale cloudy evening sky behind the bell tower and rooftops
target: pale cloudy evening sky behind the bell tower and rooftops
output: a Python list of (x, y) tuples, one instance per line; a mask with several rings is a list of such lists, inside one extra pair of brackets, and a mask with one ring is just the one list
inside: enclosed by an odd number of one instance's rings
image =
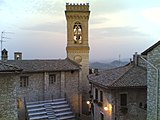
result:
[(66, 58), (66, 3), (90, 5), (90, 61), (130, 59), (160, 40), (160, 0), (0, 0), (9, 59)]

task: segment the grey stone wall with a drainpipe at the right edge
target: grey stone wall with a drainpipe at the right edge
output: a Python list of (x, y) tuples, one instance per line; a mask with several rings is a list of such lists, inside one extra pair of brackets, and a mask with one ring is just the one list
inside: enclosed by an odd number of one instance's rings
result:
[(160, 45), (147, 54), (147, 60), (154, 66), (147, 64), (147, 120), (160, 120)]

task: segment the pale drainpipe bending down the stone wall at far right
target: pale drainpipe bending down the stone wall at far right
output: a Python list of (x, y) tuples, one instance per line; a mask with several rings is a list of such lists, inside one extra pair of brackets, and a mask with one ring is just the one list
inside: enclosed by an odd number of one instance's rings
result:
[(156, 110), (157, 110), (157, 115), (156, 115), (156, 119), (158, 120), (158, 104), (159, 104), (159, 69), (156, 68), (152, 63), (150, 63), (148, 60), (146, 60), (145, 58), (143, 58), (141, 55), (140, 55), (140, 58), (142, 60), (144, 60), (147, 64), (149, 64), (152, 68), (154, 68), (156, 70), (156, 73), (157, 73), (157, 83), (156, 83), (156, 92), (157, 92), (157, 98), (156, 98), (156, 103), (157, 103), (157, 107), (156, 107)]

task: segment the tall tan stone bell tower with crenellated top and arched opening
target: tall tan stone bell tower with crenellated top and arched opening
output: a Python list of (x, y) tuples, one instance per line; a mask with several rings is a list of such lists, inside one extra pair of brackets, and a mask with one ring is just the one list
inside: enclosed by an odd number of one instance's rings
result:
[(81, 100), (82, 113), (87, 113), (86, 101), (89, 99), (89, 45), (88, 45), (88, 20), (89, 3), (66, 3), (67, 20), (67, 57), (81, 65)]

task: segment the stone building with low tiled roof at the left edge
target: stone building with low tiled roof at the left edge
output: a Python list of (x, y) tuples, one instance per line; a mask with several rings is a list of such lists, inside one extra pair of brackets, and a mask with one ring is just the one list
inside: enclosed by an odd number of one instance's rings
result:
[(17, 120), (16, 83), (21, 69), (0, 63), (0, 120)]

